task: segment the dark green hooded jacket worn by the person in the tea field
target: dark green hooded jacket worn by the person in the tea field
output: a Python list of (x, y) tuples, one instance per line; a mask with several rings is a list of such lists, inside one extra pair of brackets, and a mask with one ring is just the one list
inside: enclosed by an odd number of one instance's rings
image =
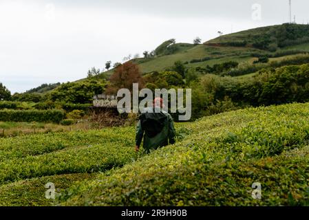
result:
[[(154, 111), (154, 109), (153, 109)], [(150, 130), (156, 130), (156, 124), (147, 124), (142, 125), (142, 122), (145, 122), (145, 118), (151, 118), (152, 120), (160, 121), (159, 124), (161, 127), (159, 128), (160, 133), (151, 135)], [(145, 129), (145, 126), (148, 126)], [(162, 129), (162, 131), (161, 131)], [(147, 131), (145, 131), (147, 130)], [(146, 152), (149, 153), (151, 149), (157, 149), (162, 146), (167, 146), (169, 144), (175, 143), (175, 128), (173, 124), (173, 118), (166, 111), (160, 110), (160, 113), (142, 113), (140, 115), (140, 120), (138, 121), (136, 127), (136, 146), (140, 146), (142, 142), (142, 138), (144, 137), (143, 148)]]

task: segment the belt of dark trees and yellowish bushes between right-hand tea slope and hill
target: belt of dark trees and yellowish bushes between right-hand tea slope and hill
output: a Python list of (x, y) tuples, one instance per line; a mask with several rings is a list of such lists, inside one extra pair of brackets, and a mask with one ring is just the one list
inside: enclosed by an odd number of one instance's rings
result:
[(309, 101), (309, 65), (263, 69), (250, 78), (207, 74), (191, 83), (193, 119), (248, 106)]

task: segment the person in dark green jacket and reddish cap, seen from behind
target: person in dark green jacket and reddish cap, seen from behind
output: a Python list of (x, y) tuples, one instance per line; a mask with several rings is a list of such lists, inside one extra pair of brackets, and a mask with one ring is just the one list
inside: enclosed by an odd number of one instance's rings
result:
[(162, 98), (155, 98), (153, 100), (152, 112), (146, 112), (140, 115), (140, 120), (136, 127), (136, 151), (140, 150), (143, 137), (143, 148), (147, 153), (150, 150), (175, 143), (173, 118), (171, 118), (169, 113), (163, 111), (162, 107)]

